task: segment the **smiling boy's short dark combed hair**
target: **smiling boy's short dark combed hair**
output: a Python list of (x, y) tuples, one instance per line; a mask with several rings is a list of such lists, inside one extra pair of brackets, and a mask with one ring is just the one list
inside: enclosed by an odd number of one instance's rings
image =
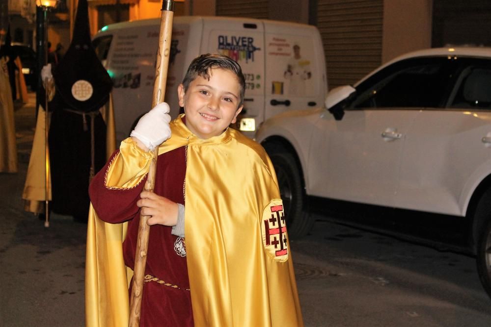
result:
[(188, 67), (188, 71), (183, 79), (184, 92), (188, 91), (188, 87), (191, 82), (197, 77), (201, 76), (210, 80), (210, 69), (221, 68), (234, 73), (239, 79), (240, 97), (239, 108), (244, 103), (244, 94), (246, 93), (246, 80), (242, 73), (241, 66), (235, 62), (235, 60), (220, 53), (206, 53), (199, 57), (196, 57), (191, 61)]

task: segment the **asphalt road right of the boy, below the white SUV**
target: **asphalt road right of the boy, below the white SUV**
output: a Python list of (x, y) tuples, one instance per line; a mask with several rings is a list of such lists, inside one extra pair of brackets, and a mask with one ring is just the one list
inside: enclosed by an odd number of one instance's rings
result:
[(307, 326), (491, 326), (473, 257), (327, 221), (292, 248)]

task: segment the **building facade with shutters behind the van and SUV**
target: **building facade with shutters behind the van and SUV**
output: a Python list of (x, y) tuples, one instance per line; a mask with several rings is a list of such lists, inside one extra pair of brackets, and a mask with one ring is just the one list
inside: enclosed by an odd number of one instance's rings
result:
[[(13, 33), (19, 39), (22, 34), (23, 42), (30, 43), (35, 28), (22, 14), (22, 6), (34, 0), (8, 1), (9, 17), (24, 20), (22, 25), (11, 18)], [(67, 1), (68, 15), (63, 20), (58, 13), (50, 21), (52, 44), (69, 43), (76, 0), (62, 1)], [(88, 2), (92, 34), (112, 23), (160, 17), (162, 7), (161, 0)], [(14, 11), (15, 15), (10, 15)], [(353, 84), (411, 50), (491, 46), (489, 0), (176, 0), (174, 15), (239, 16), (316, 25), (323, 38), (330, 89)]]

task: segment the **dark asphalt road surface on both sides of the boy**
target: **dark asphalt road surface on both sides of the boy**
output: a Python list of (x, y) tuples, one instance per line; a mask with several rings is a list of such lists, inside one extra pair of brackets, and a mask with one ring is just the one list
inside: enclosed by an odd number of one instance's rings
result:
[[(84, 326), (86, 225), (23, 210), (33, 126), (16, 111), (20, 171), (0, 174), (0, 326)], [(473, 257), (324, 219), (291, 248), (306, 326), (491, 326)]]

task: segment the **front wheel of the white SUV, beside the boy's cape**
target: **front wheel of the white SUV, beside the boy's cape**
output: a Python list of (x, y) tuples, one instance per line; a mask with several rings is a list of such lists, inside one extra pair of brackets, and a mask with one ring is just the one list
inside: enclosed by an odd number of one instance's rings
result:
[(312, 215), (304, 210), (304, 194), (297, 162), (288, 152), (274, 152), (270, 158), (278, 178), (288, 235), (290, 238), (305, 236), (312, 228), (314, 220)]

